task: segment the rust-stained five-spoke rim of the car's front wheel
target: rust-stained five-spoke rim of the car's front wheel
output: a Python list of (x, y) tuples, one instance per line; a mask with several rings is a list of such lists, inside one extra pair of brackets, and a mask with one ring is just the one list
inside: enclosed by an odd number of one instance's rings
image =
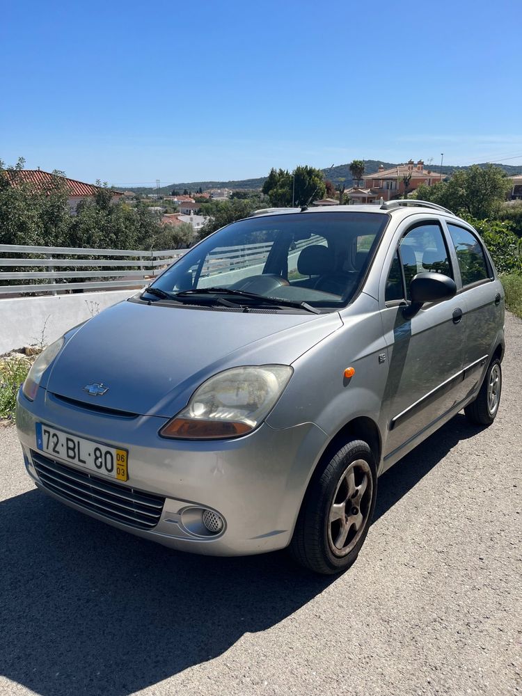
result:
[(373, 478), (364, 459), (352, 461), (339, 479), (328, 520), (328, 540), (334, 555), (350, 553), (363, 534), (372, 503)]

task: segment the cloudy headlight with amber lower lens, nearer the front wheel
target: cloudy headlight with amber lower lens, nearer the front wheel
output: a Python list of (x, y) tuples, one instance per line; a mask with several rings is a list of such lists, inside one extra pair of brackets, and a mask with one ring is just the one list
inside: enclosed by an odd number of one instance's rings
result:
[(290, 365), (232, 367), (220, 372), (196, 389), (187, 407), (159, 434), (188, 440), (246, 435), (267, 418), (292, 372)]

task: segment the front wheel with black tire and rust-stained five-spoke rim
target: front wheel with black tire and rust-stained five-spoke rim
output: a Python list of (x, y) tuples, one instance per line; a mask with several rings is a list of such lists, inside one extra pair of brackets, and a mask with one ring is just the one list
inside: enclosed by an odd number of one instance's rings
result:
[(294, 559), (323, 575), (349, 568), (370, 528), (376, 497), (372, 450), (351, 440), (326, 457), (308, 486), (290, 542)]

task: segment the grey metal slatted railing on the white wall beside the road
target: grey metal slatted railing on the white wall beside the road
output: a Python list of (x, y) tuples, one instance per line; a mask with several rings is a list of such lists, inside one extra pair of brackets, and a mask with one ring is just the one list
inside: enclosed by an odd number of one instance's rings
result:
[[(0, 298), (28, 293), (57, 294), (70, 290), (78, 292), (141, 287), (186, 251), (187, 249), (137, 251), (0, 244)], [(5, 257), (6, 254), (9, 258)], [(79, 258), (82, 256), (90, 258)], [(76, 278), (79, 279), (77, 282), (68, 282)], [(92, 280), (84, 280), (85, 278)], [(47, 282), (15, 282), (23, 280)]]

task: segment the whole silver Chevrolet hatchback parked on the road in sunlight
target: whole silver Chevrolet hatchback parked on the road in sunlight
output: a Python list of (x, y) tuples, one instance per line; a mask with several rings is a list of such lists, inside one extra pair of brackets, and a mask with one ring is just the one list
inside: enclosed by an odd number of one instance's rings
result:
[(381, 473), (463, 408), (493, 422), (503, 299), (477, 232), (439, 206), (255, 214), (38, 357), (27, 472), (181, 551), (288, 546), (342, 571)]

